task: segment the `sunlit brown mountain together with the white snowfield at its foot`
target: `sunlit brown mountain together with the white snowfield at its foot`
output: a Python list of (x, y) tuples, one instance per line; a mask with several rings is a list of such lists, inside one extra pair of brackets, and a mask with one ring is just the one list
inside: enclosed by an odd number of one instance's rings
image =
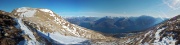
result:
[(82, 44), (92, 40), (114, 40), (101, 33), (71, 24), (49, 9), (22, 7), (12, 11), (19, 28), (25, 33), (25, 40), (19, 44)]

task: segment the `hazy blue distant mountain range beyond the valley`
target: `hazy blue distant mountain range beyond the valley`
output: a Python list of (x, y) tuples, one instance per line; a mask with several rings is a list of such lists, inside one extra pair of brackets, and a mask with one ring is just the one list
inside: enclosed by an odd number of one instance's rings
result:
[(163, 22), (167, 18), (139, 17), (66, 17), (70, 23), (102, 33), (126, 33), (143, 31)]

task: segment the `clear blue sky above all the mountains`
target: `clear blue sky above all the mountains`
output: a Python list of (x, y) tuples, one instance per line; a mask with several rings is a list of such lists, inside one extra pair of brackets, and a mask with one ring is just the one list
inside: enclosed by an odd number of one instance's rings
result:
[(60, 16), (173, 17), (180, 14), (180, 0), (1, 0), (0, 10), (19, 7), (48, 8)]

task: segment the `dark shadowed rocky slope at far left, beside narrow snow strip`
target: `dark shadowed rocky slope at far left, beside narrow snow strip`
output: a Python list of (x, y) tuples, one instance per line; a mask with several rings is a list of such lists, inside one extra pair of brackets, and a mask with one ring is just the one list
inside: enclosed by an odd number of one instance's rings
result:
[(24, 40), (21, 29), (14, 18), (0, 13), (0, 45), (16, 45)]

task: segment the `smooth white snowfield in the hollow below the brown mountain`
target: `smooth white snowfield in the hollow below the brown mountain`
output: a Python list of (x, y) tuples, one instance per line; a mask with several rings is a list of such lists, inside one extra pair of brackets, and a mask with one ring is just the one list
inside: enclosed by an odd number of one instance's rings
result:
[[(41, 32), (40, 30), (38, 30), (38, 31)], [(46, 35), (46, 38), (50, 37), (51, 39), (53, 39), (61, 44), (80, 44), (81, 42), (87, 41), (87, 39), (85, 39), (85, 38), (64, 36), (58, 32), (53, 32), (53, 33), (41, 32), (41, 33)]]

